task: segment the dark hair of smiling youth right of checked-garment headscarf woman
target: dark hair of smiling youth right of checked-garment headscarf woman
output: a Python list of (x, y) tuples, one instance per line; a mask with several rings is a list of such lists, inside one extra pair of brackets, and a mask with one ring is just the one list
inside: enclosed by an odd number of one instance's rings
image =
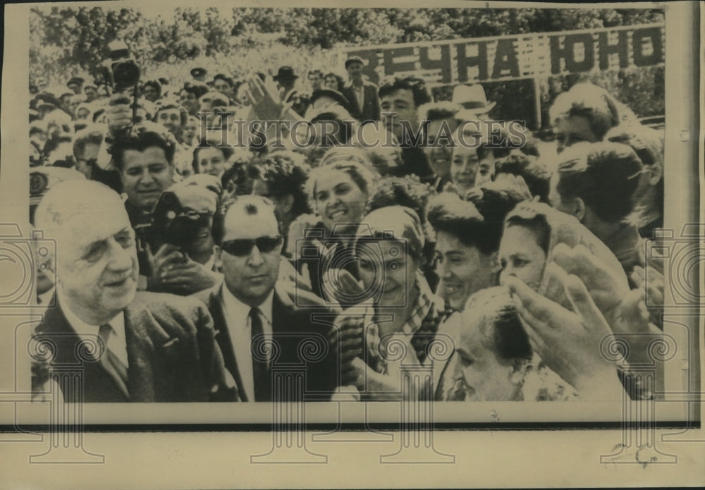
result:
[(472, 202), (458, 195), (443, 192), (432, 198), (426, 216), (436, 233), (453, 235), (466, 247), (477, 247), (484, 255), (499, 250), (501, 226), (485, 221)]

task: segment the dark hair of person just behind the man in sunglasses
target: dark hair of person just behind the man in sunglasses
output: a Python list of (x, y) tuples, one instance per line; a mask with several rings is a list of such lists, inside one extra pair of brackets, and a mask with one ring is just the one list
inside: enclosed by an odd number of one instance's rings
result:
[(250, 164), (250, 177), (264, 180), (274, 197), (291, 195), (293, 216), (311, 212), (305, 189), (308, 173), (302, 154), (277, 150), (257, 157)]

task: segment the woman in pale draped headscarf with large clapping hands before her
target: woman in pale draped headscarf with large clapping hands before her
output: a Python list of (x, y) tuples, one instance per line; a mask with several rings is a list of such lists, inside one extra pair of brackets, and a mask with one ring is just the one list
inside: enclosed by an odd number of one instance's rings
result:
[[(607, 337), (614, 334), (620, 344), (613, 345), (618, 351), (614, 353), (613, 368), (619, 366), (619, 377), (632, 397), (648, 396), (652, 387), (639, 386), (629, 374), (629, 365), (644, 362), (649, 343), (660, 339), (661, 333), (642, 314), (642, 291), (630, 290), (620, 262), (599, 238), (575, 216), (540, 202), (524, 202), (505, 219), (499, 257), (503, 266), (501, 284), (509, 286), (520, 302), (522, 297), (526, 304), (545, 303), (539, 317), (535, 310), (527, 314), (526, 307), (519, 311), (537, 354), (549, 368), (580, 390), (575, 379), (602, 365), (605, 355), (601, 349), (612, 343)], [(589, 301), (582, 298), (582, 290), (589, 291)], [(603, 324), (592, 315), (590, 328), (570, 331), (571, 321), (584, 326), (582, 320), (575, 319), (581, 313), (578, 297), (587, 311), (600, 312)], [(556, 329), (545, 329), (556, 321)], [(560, 321), (565, 321), (565, 326)], [(604, 330), (605, 325), (608, 330)], [(559, 344), (558, 332), (564, 331), (566, 342), (560, 348), (549, 348), (551, 343), (535, 333), (537, 329), (557, 335)], [(570, 338), (582, 341), (571, 343)]]

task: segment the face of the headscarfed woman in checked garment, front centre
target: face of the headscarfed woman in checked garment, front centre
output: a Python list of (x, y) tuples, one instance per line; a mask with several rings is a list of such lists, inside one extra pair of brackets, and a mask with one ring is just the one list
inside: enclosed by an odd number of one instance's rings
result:
[(356, 255), (362, 285), (373, 294), (375, 305), (403, 307), (413, 299), (419, 262), (409, 255), (403, 240), (363, 240)]

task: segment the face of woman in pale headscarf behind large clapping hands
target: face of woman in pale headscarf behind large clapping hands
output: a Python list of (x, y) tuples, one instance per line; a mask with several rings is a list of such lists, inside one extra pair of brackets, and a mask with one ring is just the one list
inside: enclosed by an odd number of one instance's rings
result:
[(508, 226), (499, 244), (499, 260), (502, 266), (500, 283), (507, 276), (515, 276), (529, 288), (539, 290), (546, 266), (546, 252), (539, 245), (537, 233), (527, 226)]

